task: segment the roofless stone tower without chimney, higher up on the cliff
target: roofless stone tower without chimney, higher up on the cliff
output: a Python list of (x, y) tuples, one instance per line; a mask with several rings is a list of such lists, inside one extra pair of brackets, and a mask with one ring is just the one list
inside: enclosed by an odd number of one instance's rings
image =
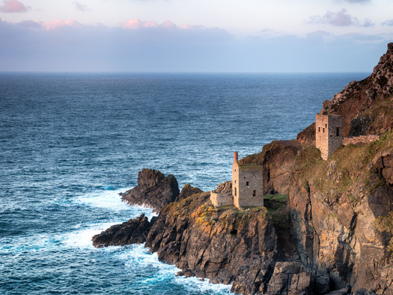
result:
[(315, 147), (321, 151), (321, 157), (327, 160), (342, 144), (341, 115), (315, 116)]

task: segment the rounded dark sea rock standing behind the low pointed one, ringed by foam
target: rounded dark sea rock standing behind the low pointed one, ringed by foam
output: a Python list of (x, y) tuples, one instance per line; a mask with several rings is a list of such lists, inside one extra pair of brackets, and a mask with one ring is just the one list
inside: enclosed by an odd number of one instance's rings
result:
[(161, 210), (179, 196), (179, 185), (171, 174), (165, 177), (158, 170), (142, 169), (138, 173), (138, 185), (120, 195), (130, 205), (144, 205)]

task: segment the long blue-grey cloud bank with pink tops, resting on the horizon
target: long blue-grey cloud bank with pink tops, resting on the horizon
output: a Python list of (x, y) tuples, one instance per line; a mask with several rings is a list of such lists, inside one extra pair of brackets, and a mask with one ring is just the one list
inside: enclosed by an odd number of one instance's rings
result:
[(371, 71), (389, 42), (382, 35), (328, 31), (237, 38), (219, 28), (173, 26), (138, 19), (116, 28), (0, 19), (0, 71)]

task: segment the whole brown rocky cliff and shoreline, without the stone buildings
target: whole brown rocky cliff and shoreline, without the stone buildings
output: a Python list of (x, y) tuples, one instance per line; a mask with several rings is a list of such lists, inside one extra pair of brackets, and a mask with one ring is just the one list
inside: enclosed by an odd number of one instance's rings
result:
[[(393, 294), (393, 43), (373, 73), (351, 82), (321, 113), (342, 115), (345, 136), (378, 135), (327, 161), (315, 125), (239, 162), (263, 166), (265, 207), (213, 207), (209, 192), (143, 169), (129, 204), (156, 208), (93, 237), (94, 246), (145, 243), (179, 275), (232, 284), (238, 294)], [(314, 130), (314, 131), (312, 131)], [(228, 183), (217, 190), (225, 190)]]

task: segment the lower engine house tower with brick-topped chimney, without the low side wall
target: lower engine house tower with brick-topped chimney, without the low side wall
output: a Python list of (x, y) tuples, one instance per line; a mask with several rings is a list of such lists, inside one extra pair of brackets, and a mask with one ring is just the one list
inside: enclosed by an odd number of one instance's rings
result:
[(233, 153), (232, 164), (233, 205), (240, 207), (263, 206), (262, 166), (238, 163), (238, 153)]

